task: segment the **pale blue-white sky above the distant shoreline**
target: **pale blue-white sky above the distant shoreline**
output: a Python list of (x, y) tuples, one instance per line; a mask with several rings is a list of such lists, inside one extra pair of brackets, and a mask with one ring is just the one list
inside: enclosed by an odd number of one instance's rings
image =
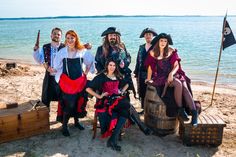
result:
[(0, 18), (91, 15), (236, 15), (236, 0), (1, 0)]

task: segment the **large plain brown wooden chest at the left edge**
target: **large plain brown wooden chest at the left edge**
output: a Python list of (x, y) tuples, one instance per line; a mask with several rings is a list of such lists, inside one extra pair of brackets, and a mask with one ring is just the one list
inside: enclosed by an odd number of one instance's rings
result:
[(49, 110), (40, 101), (0, 106), (0, 143), (49, 131)]

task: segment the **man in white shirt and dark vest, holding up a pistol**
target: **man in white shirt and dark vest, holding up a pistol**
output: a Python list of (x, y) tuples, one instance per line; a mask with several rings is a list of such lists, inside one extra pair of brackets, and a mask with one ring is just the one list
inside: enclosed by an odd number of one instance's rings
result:
[(50, 107), (51, 101), (58, 101), (59, 98), (59, 86), (55, 81), (55, 73), (53, 60), (56, 53), (63, 47), (61, 43), (62, 30), (60, 28), (53, 28), (51, 31), (51, 42), (43, 45), (39, 49), (39, 46), (34, 47), (33, 57), (35, 61), (42, 64), (45, 68), (45, 76), (43, 80), (42, 88), (42, 102)]

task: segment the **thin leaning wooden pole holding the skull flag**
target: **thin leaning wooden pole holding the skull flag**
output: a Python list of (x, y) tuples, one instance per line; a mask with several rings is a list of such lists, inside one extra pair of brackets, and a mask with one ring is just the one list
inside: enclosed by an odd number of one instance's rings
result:
[(226, 17), (227, 17), (227, 12), (226, 12), (226, 15), (224, 17), (224, 22), (223, 22), (223, 30), (222, 30), (222, 37), (221, 37), (220, 53), (219, 53), (218, 65), (217, 65), (217, 69), (216, 69), (215, 81), (214, 81), (213, 91), (212, 91), (212, 96), (211, 96), (211, 104), (209, 106), (207, 106), (207, 108), (205, 108), (204, 110), (208, 109), (213, 104), (213, 99), (214, 99), (214, 95), (215, 95), (216, 81), (217, 81), (218, 72), (219, 72), (219, 66), (220, 66), (221, 53), (222, 53), (222, 50), (223, 50), (223, 41), (224, 41), (224, 30), (225, 30), (225, 24), (226, 24)]

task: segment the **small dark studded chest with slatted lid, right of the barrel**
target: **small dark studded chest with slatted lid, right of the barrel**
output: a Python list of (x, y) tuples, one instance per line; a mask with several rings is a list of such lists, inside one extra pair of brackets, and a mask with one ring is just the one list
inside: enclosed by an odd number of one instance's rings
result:
[[(191, 118), (190, 118), (191, 119)], [(191, 121), (180, 120), (179, 135), (183, 144), (219, 146), (222, 143), (223, 129), (226, 126), (218, 115), (200, 114), (198, 126), (193, 127)]]

